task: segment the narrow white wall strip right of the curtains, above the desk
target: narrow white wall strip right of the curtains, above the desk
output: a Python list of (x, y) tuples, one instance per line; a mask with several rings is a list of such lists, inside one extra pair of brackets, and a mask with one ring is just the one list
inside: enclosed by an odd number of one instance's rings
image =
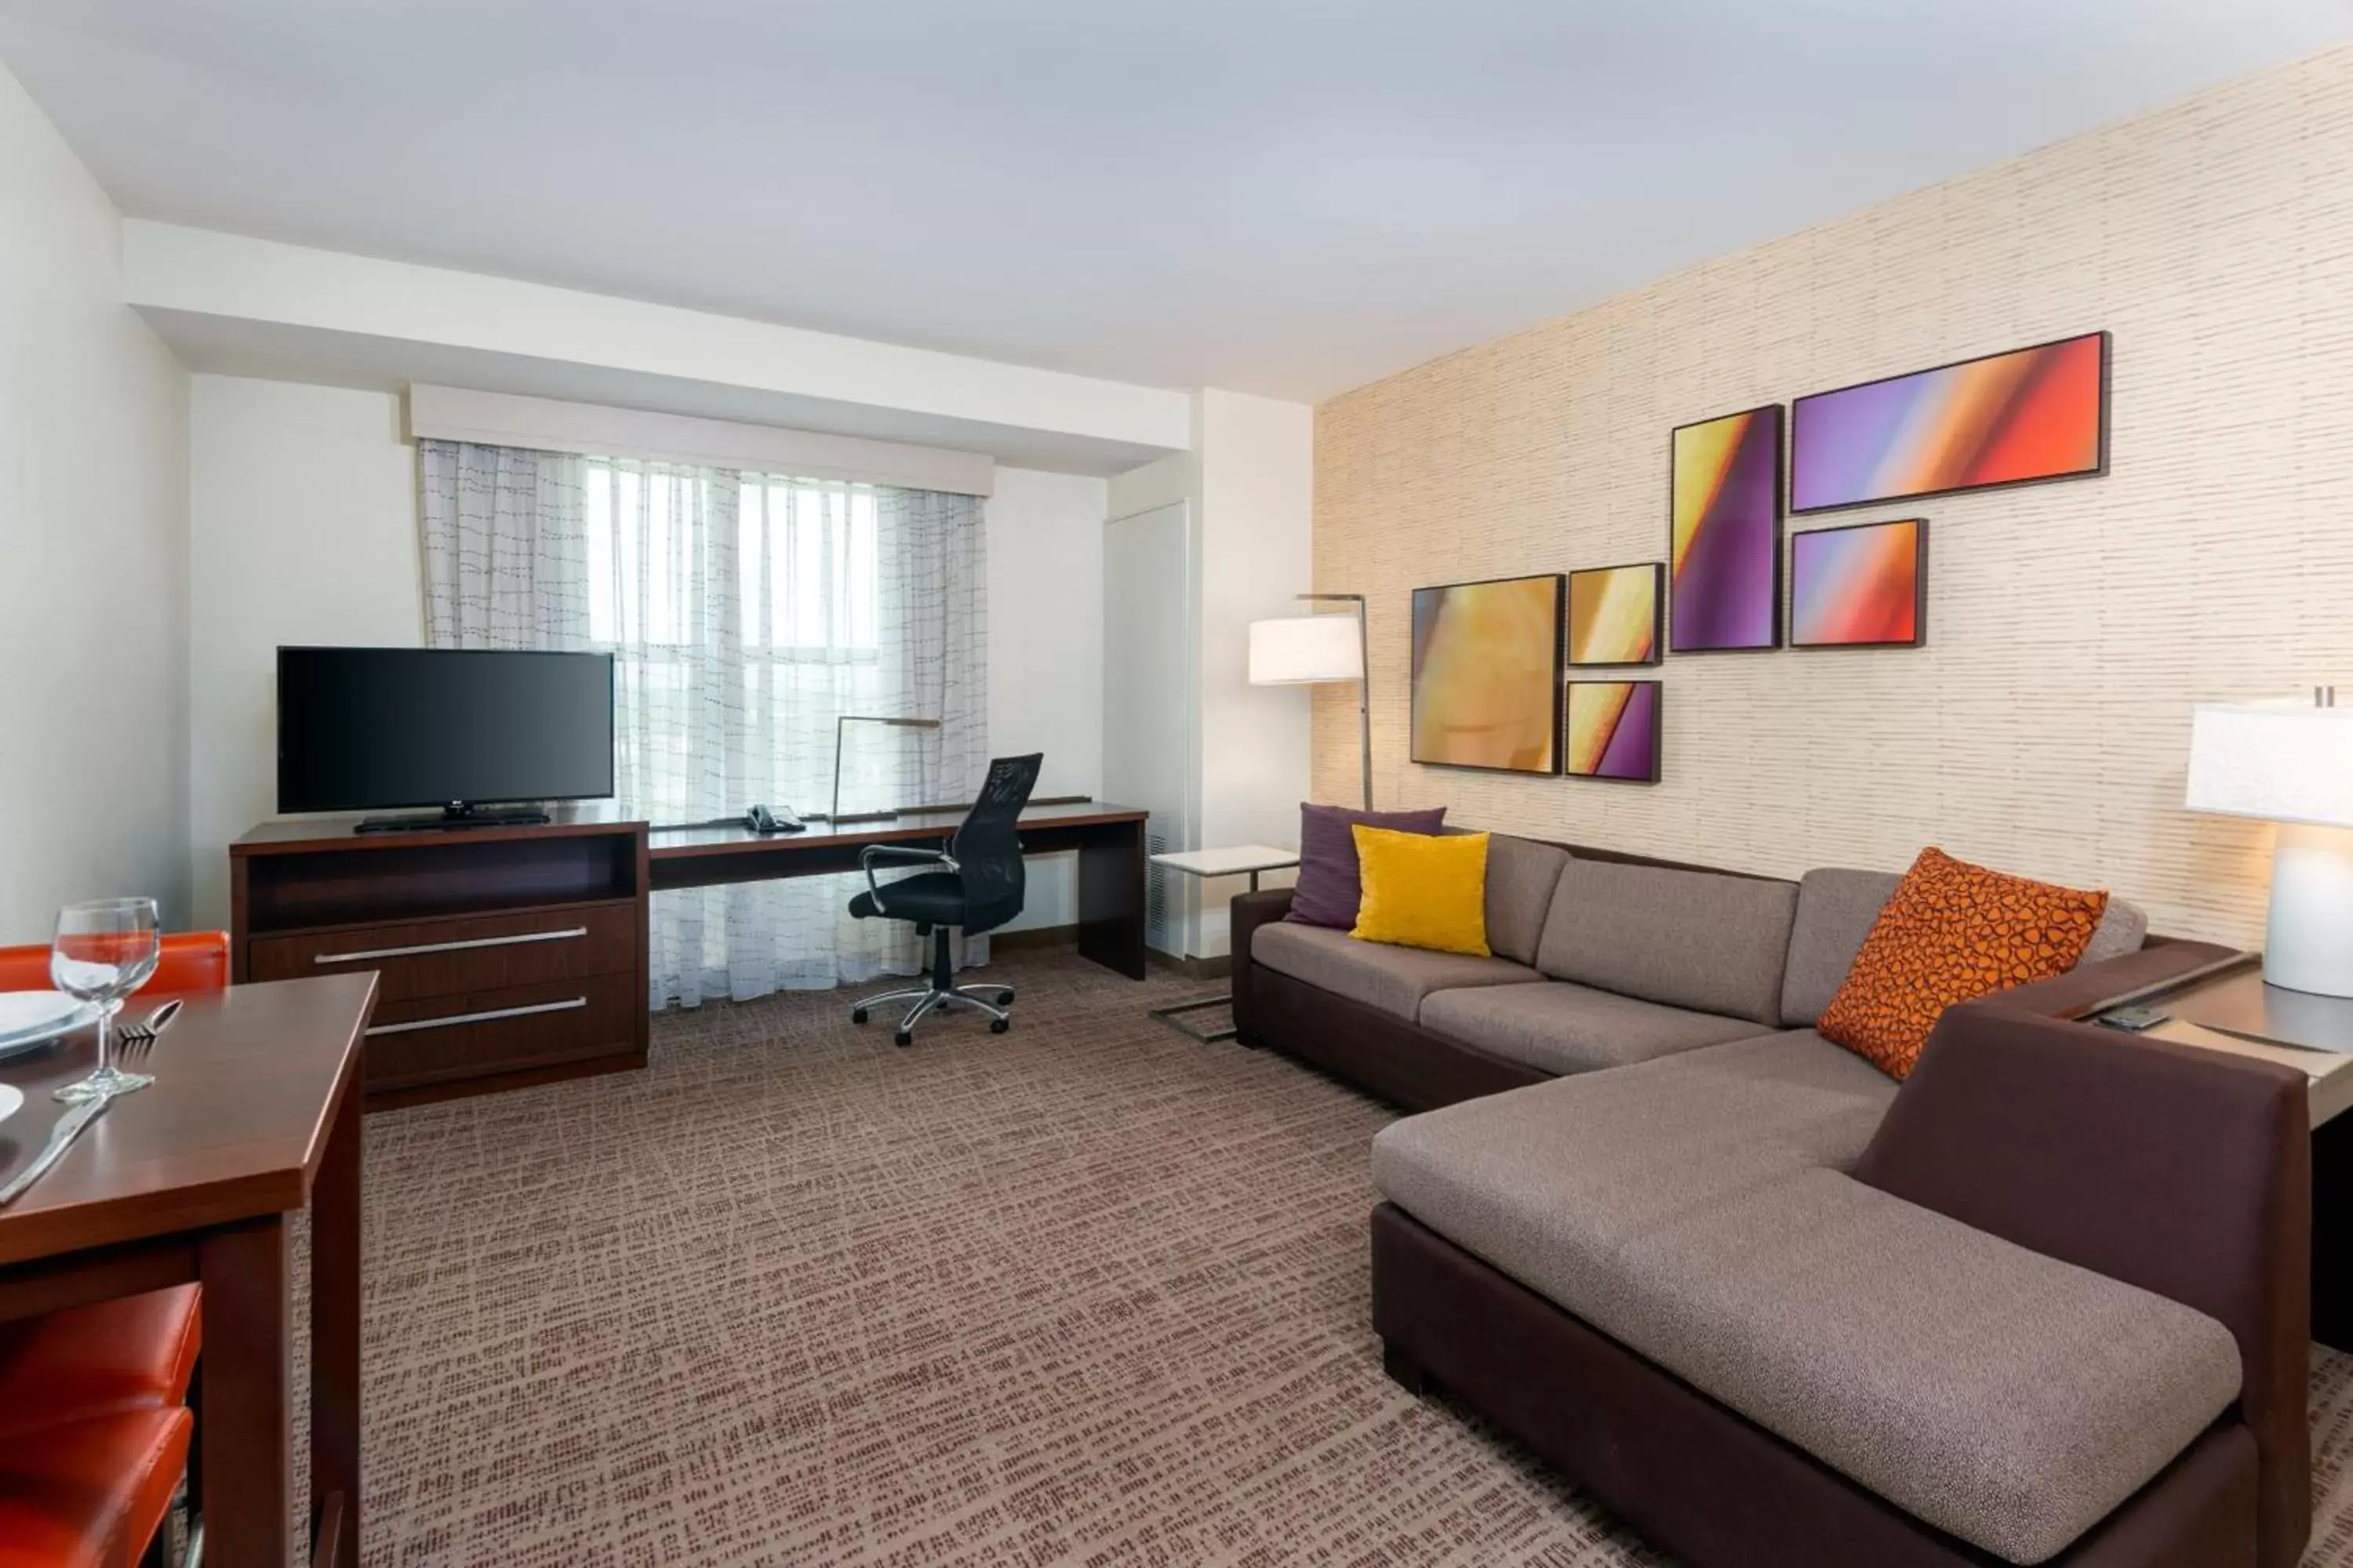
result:
[[(1045, 752), (1038, 795), (1104, 792), (1104, 480), (1000, 468), (988, 498), (988, 750)], [(1031, 860), (1007, 931), (1078, 919), (1078, 856)]]

